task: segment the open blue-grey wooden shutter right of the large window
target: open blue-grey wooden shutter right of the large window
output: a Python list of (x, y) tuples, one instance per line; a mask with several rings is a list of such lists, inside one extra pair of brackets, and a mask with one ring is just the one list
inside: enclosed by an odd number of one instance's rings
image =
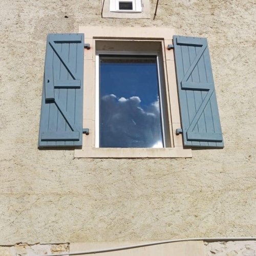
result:
[(184, 146), (223, 147), (207, 39), (173, 40)]

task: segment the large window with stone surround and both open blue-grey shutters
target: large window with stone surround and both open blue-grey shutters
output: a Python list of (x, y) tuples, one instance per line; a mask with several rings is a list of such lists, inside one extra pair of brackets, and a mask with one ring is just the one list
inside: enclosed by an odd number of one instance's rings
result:
[(206, 38), (169, 28), (79, 32), (48, 35), (39, 147), (72, 146), (91, 158), (223, 147)]

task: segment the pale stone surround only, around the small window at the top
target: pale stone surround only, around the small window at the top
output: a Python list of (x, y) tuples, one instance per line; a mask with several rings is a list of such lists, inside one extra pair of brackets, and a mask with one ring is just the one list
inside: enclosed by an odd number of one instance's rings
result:
[(111, 12), (110, 0), (101, 0), (103, 18), (150, 18), (150, 0), (142, 0), (142, 12)]

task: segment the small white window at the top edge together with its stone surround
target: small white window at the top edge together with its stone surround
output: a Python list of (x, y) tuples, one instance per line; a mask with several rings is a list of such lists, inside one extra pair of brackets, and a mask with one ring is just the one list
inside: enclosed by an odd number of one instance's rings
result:
[(102, 0), (103, 18), (150, 18), (150, 0)]

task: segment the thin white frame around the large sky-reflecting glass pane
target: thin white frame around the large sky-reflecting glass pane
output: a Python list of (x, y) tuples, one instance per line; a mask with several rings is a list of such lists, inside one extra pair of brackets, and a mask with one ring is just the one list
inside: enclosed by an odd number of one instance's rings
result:
[(100, 54), (106, 54), (106, 55), (152, 55), (156, 56), (157, 58), (157, 76), (158, 76), (158, 89), (159, 89), (159, 101), (160, 101), (160, 113), (161, 113), (161, 126), (162, 126), (162, 136), (163, 136), (163, 147), (167, 147), (168, 141), (167, 141), (167, 131), (166, 131), (166, 102), (164, 102), (163, 97), (163, 78), (161, 77), (160, 69), (161, 64), (159, 61), (160, 53), (159, 52), (140, 52), (140, 51), (96, 51), (95, 54), (95, 147), (99, 147), (99, 137), (100, 137), (100, 121), (99, 121), (99, 105), (100, 105), (100, 82), (99, 82), (99, 55)]

